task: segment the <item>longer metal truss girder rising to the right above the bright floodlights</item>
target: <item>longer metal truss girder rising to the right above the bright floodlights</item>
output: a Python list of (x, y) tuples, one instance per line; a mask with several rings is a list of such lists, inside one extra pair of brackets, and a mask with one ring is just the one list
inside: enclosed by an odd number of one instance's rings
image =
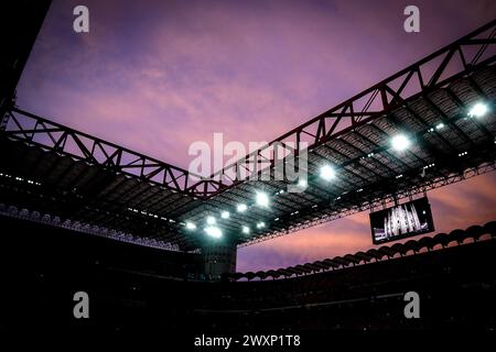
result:
[[(279, 158), (279, 148), (293, 156), (302, 148), (312, 150), (401, 107), (407, 99), (427, 95), (493, 63), (496, 59), (495, 34), (496, 20), (284, 133), (240, 161), (212, 174), (208, 179), (200, 180), (191, 189), (206, 189), (209, 182), (217, 180), (220, 187), (209, 193), (208, 197), (213, 197), (242, 182), (257, 178), (267, 168), (273, 168), (283, 162), (289, 155)], [(472, 54), (474, 51), (475, 54)], [(489, 56), (484, 57), (488, 53)], [(302, 142), (306, 143), (305, 147), (301, 147)], [(238, 175), (240, 168), (247, 170), (246, 177), (233, 179), (230, 175)]]

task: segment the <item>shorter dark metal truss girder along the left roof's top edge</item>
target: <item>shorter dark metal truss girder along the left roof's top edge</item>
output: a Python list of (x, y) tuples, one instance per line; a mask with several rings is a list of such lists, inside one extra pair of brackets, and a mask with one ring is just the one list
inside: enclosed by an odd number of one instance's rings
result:
[[(99, 165), (172, 191), (200, 198), (206, 196), (195, 190), (197, 188), (190, 188), (201, 176), (183, 168), (48, 121), (17, 107), (12, 107), (3, 119), (0, 134), (8, 139), (54, 151), (58, 155), (69, 156), (89, 165)], [(218, 184), (215, 180), (207, 183), (214, 184), (215, 187)]]

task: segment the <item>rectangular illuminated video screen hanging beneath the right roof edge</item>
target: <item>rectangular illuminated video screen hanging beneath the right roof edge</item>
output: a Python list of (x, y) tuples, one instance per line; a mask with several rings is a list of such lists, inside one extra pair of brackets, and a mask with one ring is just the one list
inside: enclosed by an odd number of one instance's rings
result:
[(434, 231), (427, 197), (370, 213), (374, 244)]

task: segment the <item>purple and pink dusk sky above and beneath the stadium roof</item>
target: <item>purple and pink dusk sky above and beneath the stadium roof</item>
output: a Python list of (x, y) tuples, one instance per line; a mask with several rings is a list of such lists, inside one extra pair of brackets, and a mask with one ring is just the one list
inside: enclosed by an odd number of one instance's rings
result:
[[(73, 9), (89, 9), (89, 33)], [(420, 33), (403, 31), (405, 7)], [(24, 110), (187, 168), (188, 146), (270, 141), (494, 19), (482, 1), (54, 0)], [(496, 173), (429, 194), (438, 232), (496, 220)], [(238, 251), (238, 271), (371, 248), (368, 213)]]

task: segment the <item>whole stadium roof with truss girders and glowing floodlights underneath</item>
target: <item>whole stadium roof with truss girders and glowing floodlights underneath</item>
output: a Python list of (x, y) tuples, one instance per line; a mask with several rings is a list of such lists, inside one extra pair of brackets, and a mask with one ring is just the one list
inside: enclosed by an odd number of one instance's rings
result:
[[(0, 125), (1, 201), (192, 251), (250, 244), (493, 170), (495, 33), (493, 21), (202, 180), (12, 106)], [(308, 185), (288, 191), (298, 180), (273, 176), (292, 157), (304, 167), (305, 153)], [(261, 175), (271, 177), (254, 179)], [(222, 239), (205, 234), (208, 217)]]

